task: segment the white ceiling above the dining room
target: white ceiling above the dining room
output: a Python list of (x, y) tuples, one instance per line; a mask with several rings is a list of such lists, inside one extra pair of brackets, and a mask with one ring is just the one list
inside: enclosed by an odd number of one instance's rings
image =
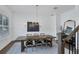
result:
[(55, 13), (63, 13), (74, 9), (74, 5), (8, 5), (12, 12), (35, 15), (36, 8), (38, 15), (54, 15)]

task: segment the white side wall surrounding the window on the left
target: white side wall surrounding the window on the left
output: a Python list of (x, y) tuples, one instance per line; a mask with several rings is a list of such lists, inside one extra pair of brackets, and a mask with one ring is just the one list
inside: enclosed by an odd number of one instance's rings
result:
[(6, 15), (9, 17), (9, 35), (2, 37), (0, 39), (0, 50), (5, 47), (12, 40), (12, 14), (6, 6), (0, 6), (0, 14)]

